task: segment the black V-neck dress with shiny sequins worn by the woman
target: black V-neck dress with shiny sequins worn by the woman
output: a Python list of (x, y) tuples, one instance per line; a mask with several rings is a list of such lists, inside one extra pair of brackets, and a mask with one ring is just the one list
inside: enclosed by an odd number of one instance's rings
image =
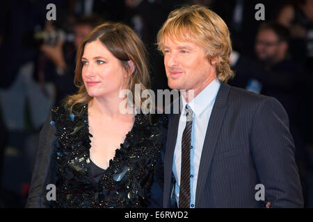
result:
[(136, 114), (101, 169), (90, 160), (88, 106), (54, 108), (40, 132), (26, 207), (161, 207), (167, 124), (163, 114)]

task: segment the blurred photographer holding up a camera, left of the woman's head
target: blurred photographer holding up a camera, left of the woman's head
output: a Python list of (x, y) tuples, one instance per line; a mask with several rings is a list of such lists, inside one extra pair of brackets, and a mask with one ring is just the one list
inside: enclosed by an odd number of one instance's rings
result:
[(38, 77), (41, 84), (53, 83), (56, 89), (55, 105), (67, 94), (73, 94), (76, 87), (73, 84), (76, 49), (83, 37), (89, 31), (101, 24), (103, 20), (95, 15), (79, 17), (74, 22), (72, 35), (61, 34), (53, 26), (47, 24), (46, 30), (54, 31), (58, 37), (54, 44), (42, 44), (40, 46), (41, 56), (38, 56)]

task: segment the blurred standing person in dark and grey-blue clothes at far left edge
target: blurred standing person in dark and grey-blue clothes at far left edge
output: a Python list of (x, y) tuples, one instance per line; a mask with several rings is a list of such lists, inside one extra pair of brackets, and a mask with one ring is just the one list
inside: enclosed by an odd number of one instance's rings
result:
[[(31, 178), (29, 139), (39, 129), (52, 105), (49, 96), (33, 79), (37, 49), (28, 44), (45, 17), (47, 1), (3, 1), (0, 8), (0, 113), (2, 207), (22, 206)], [(47, 88), (47, 92), (49, 89)], [(4, 134), (3, 134), (4, 135)], [(3, 156), (2, 156), (3, 155)], [(10, 201), (14, 200), (14, 201)]]

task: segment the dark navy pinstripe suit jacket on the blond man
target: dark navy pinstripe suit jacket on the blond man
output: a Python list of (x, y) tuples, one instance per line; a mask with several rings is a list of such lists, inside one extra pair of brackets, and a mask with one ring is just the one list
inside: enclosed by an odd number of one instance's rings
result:
[[(178, 100), (179, 101), (179, 100)], [(173, 207), (172, 161), (179, 114), (170, 114), (163, 207)], [(204, 139), (195, 207), (303, 207), (289, 119), (274, 98), (220, 85)], [(257, 201), (255, 185), (265, 187)]]

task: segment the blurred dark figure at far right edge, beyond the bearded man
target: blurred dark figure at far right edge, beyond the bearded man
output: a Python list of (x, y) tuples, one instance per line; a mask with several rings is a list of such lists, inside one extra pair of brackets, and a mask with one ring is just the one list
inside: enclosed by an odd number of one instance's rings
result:
[[(313, 92), (313, 1), (294, 0), (288, 1), (278, 13), (277, 21), (289, 29), (291, 33), (290, 52), (291, 56), (298, 63), (307, 69), (307, 78), (302, 82), (305, 89), (303, 101), (312, 98)], [(301, 114), (301, 128), (308, 151), (310, 152), (311, 169), (310, 186), (313, 187), (313, 104), (303, 103)], [(313, 207), (313, 191), (308, 194), (308, 205)]]

